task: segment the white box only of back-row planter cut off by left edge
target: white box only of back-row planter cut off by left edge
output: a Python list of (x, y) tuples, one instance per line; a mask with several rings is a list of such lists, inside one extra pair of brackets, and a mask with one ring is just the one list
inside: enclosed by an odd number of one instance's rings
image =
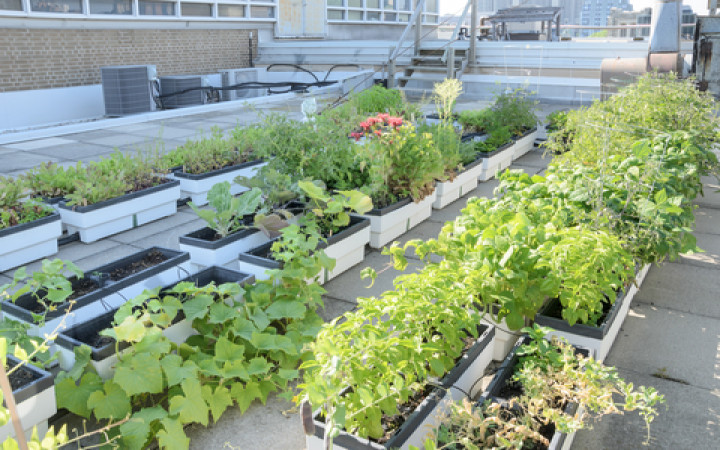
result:
[(0, 230), (0, 272), (54, 255), (61, 235), (58, 213)]

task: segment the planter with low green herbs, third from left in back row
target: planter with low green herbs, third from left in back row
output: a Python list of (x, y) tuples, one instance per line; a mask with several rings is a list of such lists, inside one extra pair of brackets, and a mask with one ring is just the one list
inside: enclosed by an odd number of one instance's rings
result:
[[(180, 181), (183, 197), (190, 197), (195, 205), (208, 203), (207, 194), (217, 183), (232, 182), (237, 176), (251, 177), (263, 164), (255, 153), (262, 140), (259, 127), (236, 127), (228, 137), (214, 128), (209, 137), (188, 140), (163, 157), (164, 166), (179, 166), (171, 176)], [(245, 188), (232, 183), (230, 192), (239, 194)]]

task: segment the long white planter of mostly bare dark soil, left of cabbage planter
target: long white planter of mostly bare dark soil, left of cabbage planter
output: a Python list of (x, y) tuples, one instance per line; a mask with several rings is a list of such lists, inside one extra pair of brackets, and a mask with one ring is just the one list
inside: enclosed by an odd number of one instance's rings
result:
[[(160, 252), (166, 259), (159, 264), (142, 269), (118, 281), (112, 281), (108, 278), (113, 270), (142, 261), (155, 251)], [(190, 256), (186, 252), (152, 247), (88, 270), (85, 272), (84, 278), (94, 280), (97, 289), (73, 299), (74, 304), (67, 314), (67, 304), (48, 312), (45, 316), (45, 325), (42, 327), (35, 326), (33, 332), (43, 336), (45, 333), (52, 333), (58, 328), (60, 328), (58, 331), (62, 331), (74, 326), (76, 323), (85, 322), (106, 311), (119, 307), (128, 299), (141, 294), (145, 289), (175, 283), (189, 274), (187, 267), (189, 260)], [(70, 277), (69, 281), (73, 287), (77, 287), (81, 283), (81, 280), (74, 276)], [(2, 309), (3, 315), (7, 318), (32, 324), (34, 323), (32, 311), (37, 307), (37, 300), (32, 294), (28, 293), (19, 297), (14, 303), (4, 302)]]

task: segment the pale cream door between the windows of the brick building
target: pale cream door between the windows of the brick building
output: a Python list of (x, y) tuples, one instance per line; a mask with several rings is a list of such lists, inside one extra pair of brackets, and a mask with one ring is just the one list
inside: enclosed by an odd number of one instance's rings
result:
[(325, 37), (325, 0), (278, 0), (275, 37)]

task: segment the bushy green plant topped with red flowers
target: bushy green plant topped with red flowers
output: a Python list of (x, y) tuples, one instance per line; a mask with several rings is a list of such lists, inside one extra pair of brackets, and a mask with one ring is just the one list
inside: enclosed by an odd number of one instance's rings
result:
[(387, 205), (403, 197), (415, 201), (432, 193), (435, 178), (443, 175), (443, 159), (430, 133), (418, 133), (402, 117), (378, 114), (360, 122), (351, 134), (364, 138), (357, 158), (361, 171), (368, 171), (367, 186), (373, 203)]

